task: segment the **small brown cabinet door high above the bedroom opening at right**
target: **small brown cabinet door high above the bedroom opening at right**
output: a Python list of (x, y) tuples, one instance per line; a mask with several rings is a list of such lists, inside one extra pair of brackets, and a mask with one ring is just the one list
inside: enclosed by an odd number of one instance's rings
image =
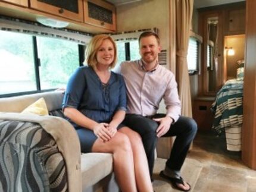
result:
[(229, 32), (245, 33), (245, 10), (229, 11)]

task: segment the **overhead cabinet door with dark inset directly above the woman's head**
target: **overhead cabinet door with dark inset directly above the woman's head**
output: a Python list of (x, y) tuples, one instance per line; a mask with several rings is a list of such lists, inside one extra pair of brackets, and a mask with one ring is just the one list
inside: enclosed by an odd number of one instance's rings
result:
[(84, 0), (85, 23), (109, 30), (116, 30), (115, 7), (101, 0)]

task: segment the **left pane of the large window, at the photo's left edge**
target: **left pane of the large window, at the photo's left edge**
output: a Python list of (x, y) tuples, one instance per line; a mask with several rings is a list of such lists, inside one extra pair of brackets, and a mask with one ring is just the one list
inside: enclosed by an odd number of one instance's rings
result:
[(0, 31), (0, 95), (36, 90), (33, 39)]

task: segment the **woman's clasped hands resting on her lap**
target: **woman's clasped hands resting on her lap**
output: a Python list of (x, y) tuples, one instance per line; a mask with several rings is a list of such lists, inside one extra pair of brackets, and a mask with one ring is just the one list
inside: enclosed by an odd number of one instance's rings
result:
[(114, 122), (110, 122), (110, 124), (101, 122), (93, 127), (93, 133), (103, 142), (111, 140), (114, 137), (115, 133), (117, 133), (117, 125)]

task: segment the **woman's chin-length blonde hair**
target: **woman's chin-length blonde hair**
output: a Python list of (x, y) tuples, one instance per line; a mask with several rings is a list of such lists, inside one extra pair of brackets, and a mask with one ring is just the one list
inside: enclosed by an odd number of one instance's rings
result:
[(114, 46), (114, 60), (113, 62), (110, 64), (110, 68), (114, 68), (115, 67), (115, 63), (117, 62), (117, 46), (115, 45), (114, 40), (112, 39), (111, 36), (107, 35), (107, 34), (97, 34), (96, 36), (94, 36), (88, 46), (86, 47), (86, 51), (85, 51), (85, 62), (84, 64), (92, 67), (93, 69), (96, 67), (97, 64), (97, 52), (99, 50), (99, 47), (102, 45), (102, 42), (104, 40), (110, 40), (113, 43)]

